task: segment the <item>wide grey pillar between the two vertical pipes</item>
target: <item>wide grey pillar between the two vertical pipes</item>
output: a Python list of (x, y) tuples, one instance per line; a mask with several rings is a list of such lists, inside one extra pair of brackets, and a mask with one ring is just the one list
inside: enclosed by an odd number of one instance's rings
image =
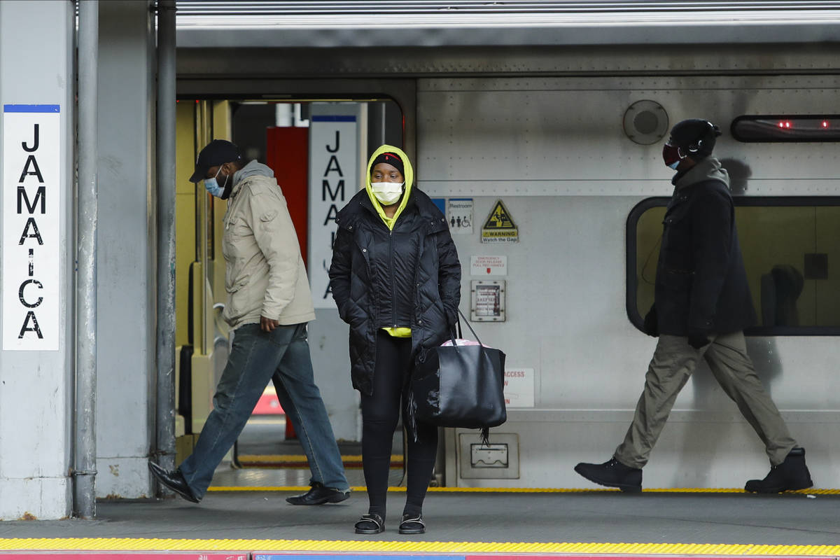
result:
[(155, 418), (154, 14), (99, 11), (97, 496), (152, 495)]

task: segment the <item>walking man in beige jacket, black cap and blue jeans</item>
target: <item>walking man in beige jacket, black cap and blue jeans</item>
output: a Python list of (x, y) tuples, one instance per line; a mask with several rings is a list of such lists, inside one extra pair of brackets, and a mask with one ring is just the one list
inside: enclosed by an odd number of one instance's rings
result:
[(250, 161), (227, 140), (213, 140), (198, 154), (190, 181), (204, 181), (228, 200), (222, 253), (233, 328), (228, 364), (213, 396), (213, 411), (192, 455), (174, 471), (150, 462), (155, 478), (186, 500), (202, 499), (213, 471), (234, 444), (265, 386), (273, 381), (309, 461), (312, 488), (291, 496), (293, 505), (347, 500), (339, 447), (312, 374), (307, 322), (315, 318), (307, 271), (286, 198), (272, 170)]

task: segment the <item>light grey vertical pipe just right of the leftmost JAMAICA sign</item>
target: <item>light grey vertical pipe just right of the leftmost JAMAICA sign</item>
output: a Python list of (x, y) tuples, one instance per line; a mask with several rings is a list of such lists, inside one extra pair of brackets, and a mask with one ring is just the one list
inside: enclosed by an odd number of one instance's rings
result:
[(73, 514), (96, 516), (97, 78), (99, 0), (79, 3), (79, 191), (76, 273), (76, 458)]

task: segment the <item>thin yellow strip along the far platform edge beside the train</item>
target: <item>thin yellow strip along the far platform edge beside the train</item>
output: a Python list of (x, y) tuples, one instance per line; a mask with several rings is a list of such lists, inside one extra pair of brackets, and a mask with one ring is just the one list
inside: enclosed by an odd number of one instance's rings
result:
[[(306, 491), (309, 486), (211, 486), (207, 492), (298, 492)], [(365, 486), (351, 486), (354, 492), (365, 492)], [(405, 492), (405, 486), (389, 486), (389, 492)], [(621, 492), (615, 488), (438, 488), (432, 487), (429, 492), (486, 492), (491, 493), (580, 493), (580, 492)], [(651, 494), (747, 494), (743, 488), (649, 488), (642, 490)], [(790, 490), (785, 494), (804, 495), (840, 495), (840, 489), (810, 488), (804, 490)]]

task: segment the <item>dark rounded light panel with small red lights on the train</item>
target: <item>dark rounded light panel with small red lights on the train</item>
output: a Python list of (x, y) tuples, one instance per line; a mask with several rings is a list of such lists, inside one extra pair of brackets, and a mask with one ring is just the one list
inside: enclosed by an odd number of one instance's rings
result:
[(840, 115), (742, 115), (730, 128), (739, 142), (840, 141)]

